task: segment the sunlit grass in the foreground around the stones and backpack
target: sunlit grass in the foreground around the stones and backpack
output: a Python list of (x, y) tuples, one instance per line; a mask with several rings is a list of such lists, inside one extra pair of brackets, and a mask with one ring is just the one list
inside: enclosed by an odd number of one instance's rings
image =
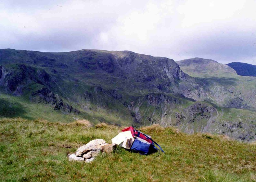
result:
[(90, 140), (110, 143), (121, 128), (88, 123), (0, 120), (0, 181), (256, 181), (256, 145), (174, 128), (141, 128), (166, 154), (119, 148), (91, 164), (67, 155)]

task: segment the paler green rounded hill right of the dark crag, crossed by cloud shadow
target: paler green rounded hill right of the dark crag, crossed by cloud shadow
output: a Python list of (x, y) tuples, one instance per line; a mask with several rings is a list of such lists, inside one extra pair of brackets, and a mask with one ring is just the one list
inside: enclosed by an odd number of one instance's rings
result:
[(191, 58), (177, 63), (185, 73), (201, 82), (215, 104), (255, 111), (255, 78), (239, 76), (228, 65), (203, 58)]

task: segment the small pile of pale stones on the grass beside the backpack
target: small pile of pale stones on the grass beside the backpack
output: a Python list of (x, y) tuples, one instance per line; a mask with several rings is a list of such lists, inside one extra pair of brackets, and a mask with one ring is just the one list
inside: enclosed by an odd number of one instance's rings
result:
[(71, 154), (69, 161), (78, 160), (90, 163), (99, 153), (110, 154), (117, 146), (117, 144), (108, 144), (103, 139), (92, 140), (86, 145), (79, 147), (74, 154)]

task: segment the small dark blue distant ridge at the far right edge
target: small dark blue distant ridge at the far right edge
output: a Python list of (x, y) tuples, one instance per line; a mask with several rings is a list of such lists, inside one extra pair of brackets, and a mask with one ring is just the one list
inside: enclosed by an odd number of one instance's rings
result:
[(238, 75), (241, 76), (256, 76), (256, 66), (247, 63), (233, 62), (227, 64), (231, 68), (233, 68)]

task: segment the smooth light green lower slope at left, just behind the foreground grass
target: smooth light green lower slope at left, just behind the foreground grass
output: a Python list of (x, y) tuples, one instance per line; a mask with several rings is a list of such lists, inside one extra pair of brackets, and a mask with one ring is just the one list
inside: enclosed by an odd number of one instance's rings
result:
[[(98, 108), (97, 112), (90, 110), (80, 112), (79, 114), (67, 113), (61, 110), (55, 110), (49, 104), (33, 103), (24, 97), (15, 97), (8, 94), (0, 94), (0, 118), (22, 117), (28, 120), (42, 118), (51, 122), (69, 123), (75, 119), (88, 119), (94, 124), (107, 122), (109, 124), (131, 124), (132, 119), (129, 115), (118, 114), (110, 109)], [(95, 106), (96, 107), (96, 106)], [(81, 109), (82, 110), (82, 109)], [(119, 113), (125, 112), (119, 109)]]

